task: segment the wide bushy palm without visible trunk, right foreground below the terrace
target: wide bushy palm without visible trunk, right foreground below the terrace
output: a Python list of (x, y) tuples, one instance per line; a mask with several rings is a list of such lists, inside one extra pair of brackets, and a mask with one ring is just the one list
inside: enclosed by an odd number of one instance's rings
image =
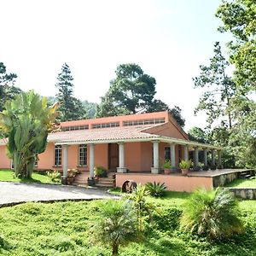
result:
[(237, 213), (237, 202), (228, 190), (197, 189), (183, 209), (181, 226), (212, 239), (228, 237), (243, 230)]

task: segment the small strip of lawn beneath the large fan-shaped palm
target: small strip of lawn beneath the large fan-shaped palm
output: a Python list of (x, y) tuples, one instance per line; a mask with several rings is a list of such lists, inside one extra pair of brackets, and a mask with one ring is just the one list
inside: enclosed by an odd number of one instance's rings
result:
[(33, 172), (32, 178), (14, 177), (14, 172), (11, 170), (0, 170), (0, 181), (13, 181), (22, 183), (53, 183), (47, 175), (39, 172)]

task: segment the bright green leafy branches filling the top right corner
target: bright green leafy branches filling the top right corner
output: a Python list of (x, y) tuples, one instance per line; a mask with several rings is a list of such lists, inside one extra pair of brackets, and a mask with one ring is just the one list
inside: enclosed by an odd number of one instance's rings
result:
[(256, 90), (256, 5), (255, 0), (223, 0), (217, 17), (224, 26), (220, 32), (231, 32), (230, 62), (235, 64), (236, 86), (241, 94)]

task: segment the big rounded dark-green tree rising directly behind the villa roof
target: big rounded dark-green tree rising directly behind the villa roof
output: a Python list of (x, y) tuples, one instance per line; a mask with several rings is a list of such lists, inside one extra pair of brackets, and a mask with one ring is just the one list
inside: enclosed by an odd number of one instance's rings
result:
[(165, 102), (154, 98), (156, 81), (141, 67), (134, 63), (121, 64), (115, 73), (116, 78), (110, 82), (108, 92), (96, 108), (97, 117), (169, 111), (177, 123), (184, 126), (181, 108), (169, 108)]

